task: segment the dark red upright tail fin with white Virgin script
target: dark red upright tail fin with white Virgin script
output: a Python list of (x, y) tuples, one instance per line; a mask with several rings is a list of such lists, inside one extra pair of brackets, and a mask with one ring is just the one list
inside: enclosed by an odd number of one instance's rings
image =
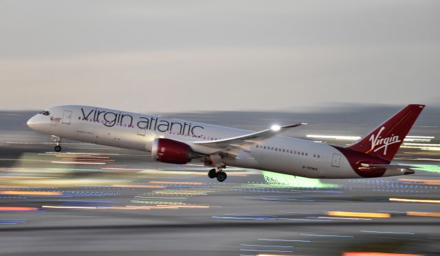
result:
[(366, 137), (349, 146), (351, 150), (364, 152), (382, 159), (393, 160), (412, 124), (425, 105), (408, 105), (377, 127)]

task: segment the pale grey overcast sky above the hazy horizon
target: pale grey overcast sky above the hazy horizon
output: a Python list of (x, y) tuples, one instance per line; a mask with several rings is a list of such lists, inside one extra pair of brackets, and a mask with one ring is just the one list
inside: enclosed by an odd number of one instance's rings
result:
[(1, 1), (1, 109), (437, 104), (440, 1)]

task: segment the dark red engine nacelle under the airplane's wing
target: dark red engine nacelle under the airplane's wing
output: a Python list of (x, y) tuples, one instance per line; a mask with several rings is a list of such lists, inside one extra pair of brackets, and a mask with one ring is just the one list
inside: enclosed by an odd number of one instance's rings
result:
[(173, 139), (157, 138), (153, 141), (151, 158), (164, 163), (184, 164), (195, 158), (190, 146)]

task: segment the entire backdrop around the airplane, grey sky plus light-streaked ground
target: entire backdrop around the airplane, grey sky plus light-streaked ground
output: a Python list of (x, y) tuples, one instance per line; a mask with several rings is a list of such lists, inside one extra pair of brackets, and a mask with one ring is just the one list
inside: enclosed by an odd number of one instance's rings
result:
[[(0, 0), (1, 255), (439, 255), (439, 1)], [(347, 145), (426, 104), (416, 174), (307, 179), (63, 141), (58, 104)]]

